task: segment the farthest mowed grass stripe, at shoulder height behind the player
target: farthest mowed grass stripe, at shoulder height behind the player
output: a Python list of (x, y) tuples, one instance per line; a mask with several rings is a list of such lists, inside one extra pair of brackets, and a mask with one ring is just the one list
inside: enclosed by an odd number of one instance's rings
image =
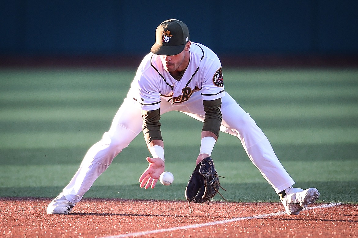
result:
[[(129, 85), (136, 69), (1, 69), (0, 84), (18, 86), (19, 82), (29, 86), (75, 86), (81, 82), (86, 85), (103, 85), (118, 81)], [(224, 80), (236, 85), (262, 84), (342, 84), (357, 82), (358, 69), (234, 69), (224, 68)], [(44, 84), (45, 83), (45, 84)], [(23, 86), (23, 85), (22, 85)]]

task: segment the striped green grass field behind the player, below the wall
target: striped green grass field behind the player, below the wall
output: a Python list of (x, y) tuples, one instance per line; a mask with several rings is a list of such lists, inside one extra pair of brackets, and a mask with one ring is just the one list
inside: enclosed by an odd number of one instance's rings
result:
[[(0, 197), (53, 198), (108, 130), (135, 70), (1, 69)], [(358, 69), (225, 70), (226, 91), (271, 141), (296, 186), (319, 202), (358, 203)], [(184, 200), (202, 123), (162, 116), (171, 186), (139, 188), (149, 155), (139, 135), (85, 197)], [(221, 133), (212, 157), (229, 201), (278, 201), (240, 142)], [(221, 200), (216, 196), (215, 200)]]

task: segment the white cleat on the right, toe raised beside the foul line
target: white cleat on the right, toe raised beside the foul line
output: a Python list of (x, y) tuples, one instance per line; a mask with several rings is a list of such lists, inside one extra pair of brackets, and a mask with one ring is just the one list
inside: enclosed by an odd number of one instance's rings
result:
[(314, 203), (319, 198), (319, 191), (316, 188), (306, 190), (290, 188), (283, 199), (280, 198), (289, 215), (298, 215), (303, 208)]

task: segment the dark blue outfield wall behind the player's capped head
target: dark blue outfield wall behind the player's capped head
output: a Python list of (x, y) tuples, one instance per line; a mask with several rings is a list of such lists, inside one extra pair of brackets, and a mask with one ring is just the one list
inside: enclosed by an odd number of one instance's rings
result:
[(0, 55), (145, 54), (169, 18), (218, 54), (358, 54), (356, 0), (0, 0)]

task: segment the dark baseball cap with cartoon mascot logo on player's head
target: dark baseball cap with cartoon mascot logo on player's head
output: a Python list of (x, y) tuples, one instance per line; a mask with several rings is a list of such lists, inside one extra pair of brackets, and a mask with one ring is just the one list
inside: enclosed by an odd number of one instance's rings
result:
[(189, 41), (189, 29), (182, 21), (163, 21), (155, 31), (155, 43), (150, 49), (153, 54), (176, 55), (183, 51)]

